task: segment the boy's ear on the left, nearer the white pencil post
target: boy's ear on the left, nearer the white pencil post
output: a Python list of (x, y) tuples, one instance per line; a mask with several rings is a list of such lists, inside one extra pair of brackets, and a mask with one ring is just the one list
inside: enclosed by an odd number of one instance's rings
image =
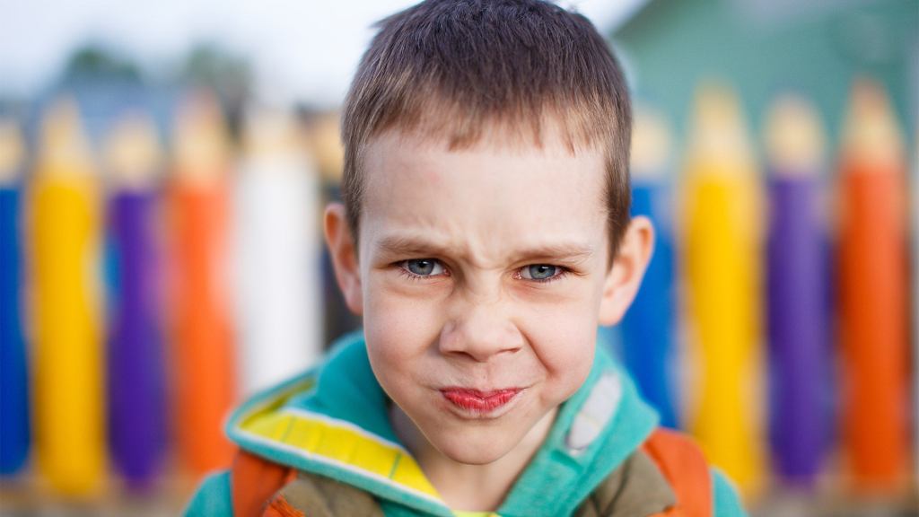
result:
[(359, 316), (364, 310), (360, 268), (357, 265), (355, 239), (345, 217), (345, 205), (330, 203), (325, 207), (324, 229), (325, 243), (329, 247), (335, 267), (335, 280), (345, 295), (347, 308)]

